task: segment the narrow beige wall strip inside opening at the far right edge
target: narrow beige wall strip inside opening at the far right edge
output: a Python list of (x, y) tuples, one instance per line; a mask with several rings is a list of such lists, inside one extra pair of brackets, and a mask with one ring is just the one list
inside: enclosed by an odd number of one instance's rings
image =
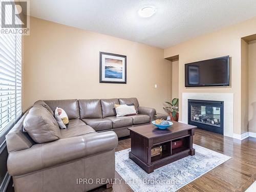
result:
[(249, 132), (256, 133), (256, 40), (250, 41), (248, 48), (249, 62)]

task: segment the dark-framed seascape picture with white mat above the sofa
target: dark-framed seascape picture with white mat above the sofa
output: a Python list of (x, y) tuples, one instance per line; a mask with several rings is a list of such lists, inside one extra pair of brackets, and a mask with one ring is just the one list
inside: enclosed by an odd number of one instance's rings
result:
[(126, 56), (99, 52), (99, 82), (126, 84)]

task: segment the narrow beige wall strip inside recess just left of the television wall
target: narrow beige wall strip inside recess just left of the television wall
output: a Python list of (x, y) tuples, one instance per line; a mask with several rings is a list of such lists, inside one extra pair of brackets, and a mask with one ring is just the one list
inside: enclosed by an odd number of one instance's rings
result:
[(172, 61), (172, 99), (179, 98), (179, 60)]

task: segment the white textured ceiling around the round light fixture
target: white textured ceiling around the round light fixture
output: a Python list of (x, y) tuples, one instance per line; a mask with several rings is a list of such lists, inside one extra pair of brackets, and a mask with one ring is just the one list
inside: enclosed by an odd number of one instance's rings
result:
[[(138, 10), (157, 12), (142, 18)], [(31, 0), (30, 15), (167, 48), (256, 16), (256, 0)]]

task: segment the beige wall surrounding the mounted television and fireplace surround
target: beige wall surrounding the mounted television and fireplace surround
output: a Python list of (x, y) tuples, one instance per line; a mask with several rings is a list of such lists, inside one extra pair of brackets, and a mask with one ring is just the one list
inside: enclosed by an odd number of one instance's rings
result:
[[(242, 134), (247, 127), (241, 127), (241, 38), (256, 33), (256, 17), (243, 23), (206, 34), (164, 50), (164, 58), (179, 55), (179, 109), (182, 120), (182, 93), (233, 93), (234, 94), (234, 133)], [(184, 87), (184, 64), (220, 56), (230, 56), (230, 86), (208, 88)], [(221, 98), (220, 98), (221, 100)]]

